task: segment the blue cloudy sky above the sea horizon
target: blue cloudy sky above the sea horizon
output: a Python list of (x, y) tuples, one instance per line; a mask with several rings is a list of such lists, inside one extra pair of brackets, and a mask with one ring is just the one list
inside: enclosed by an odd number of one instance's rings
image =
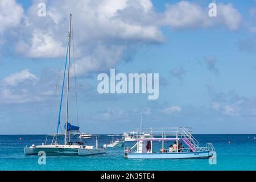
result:
[[(0, 134), (56, 132), (70, 13), (69, 122), (81, 131), (122, 134), (142, 117), (143, 127), (256, 133), (255, 0), (0, 0)], [(159, 73), (159, 98), (98, 93), (111, 68)]]

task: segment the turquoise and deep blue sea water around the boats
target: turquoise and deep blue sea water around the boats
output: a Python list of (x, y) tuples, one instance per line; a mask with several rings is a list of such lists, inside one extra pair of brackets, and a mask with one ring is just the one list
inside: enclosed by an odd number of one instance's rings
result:
[[(46, 165), (39, 165), (39, 156), (24, 155), (23, 147), (41, 144), (45, 135), (0, 135), (0, 170), (256, 170), (256, 134), (194, 136), (201, 147), (213, 143), (217, 152), (216, 165), (210, 165), (208, 159), (125, 159), (123, 148), (108, 148), (108, 153), (103, 155), (47, 155)], [(101, 135), (100, 145), (111, 139)], [(133, 142), (125, 145), (132, 146)]]

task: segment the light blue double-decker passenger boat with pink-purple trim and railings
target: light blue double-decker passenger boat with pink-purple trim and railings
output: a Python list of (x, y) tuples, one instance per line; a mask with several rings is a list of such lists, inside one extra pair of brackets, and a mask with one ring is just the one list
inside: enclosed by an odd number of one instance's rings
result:
[[(133, 147), (125, 147), (124, 157), (127, 159), (189, 159), (212, 158), (215, 148), (212, 143), (199, 147), (193, 137), (191, 128), (150, 128), (143, 129), (150, 137), (134, 139)], [(183, 146), (184, 144), (184, 146)]]

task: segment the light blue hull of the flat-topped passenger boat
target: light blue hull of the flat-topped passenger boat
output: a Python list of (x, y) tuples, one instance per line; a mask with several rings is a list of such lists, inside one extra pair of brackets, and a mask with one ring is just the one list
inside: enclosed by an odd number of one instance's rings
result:
[(209, 158), (212, 156), (211, 151), (204, 152), (171, 152), (171, 153), (125, 153), (128, 159), (192, 159), (192, 158)]

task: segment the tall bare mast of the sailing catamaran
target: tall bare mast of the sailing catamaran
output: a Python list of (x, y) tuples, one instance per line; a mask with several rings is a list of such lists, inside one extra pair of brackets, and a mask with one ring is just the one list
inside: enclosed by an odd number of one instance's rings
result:
[(71, 47), (71, 18), (69, 20), (69, 32), (68, 32), (68, 80), (67, 80), (67, 105), (66, 105), (66, 127), (65, 127), (65, 144), (67, 144), (68, 135), (68, 96), (69, 96), (69, 65), (70, 65), (70, 47)]

